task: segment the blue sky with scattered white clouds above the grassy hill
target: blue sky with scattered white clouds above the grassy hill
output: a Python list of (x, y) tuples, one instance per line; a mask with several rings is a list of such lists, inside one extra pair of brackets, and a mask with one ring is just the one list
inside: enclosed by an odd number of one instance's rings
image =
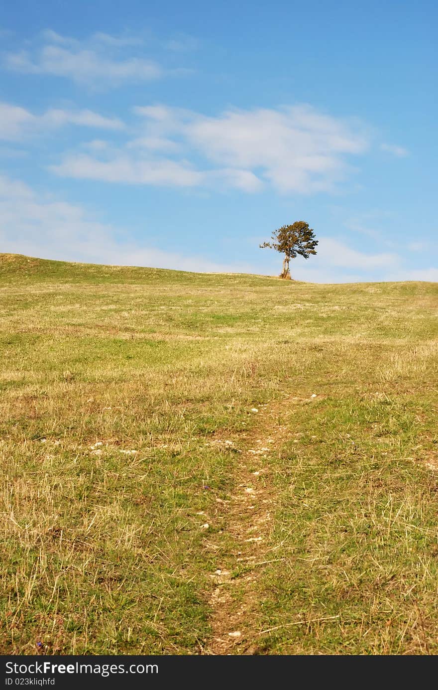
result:
[(0, 250), (438, 280), (435, 0), (16, 0), (0, 17)]

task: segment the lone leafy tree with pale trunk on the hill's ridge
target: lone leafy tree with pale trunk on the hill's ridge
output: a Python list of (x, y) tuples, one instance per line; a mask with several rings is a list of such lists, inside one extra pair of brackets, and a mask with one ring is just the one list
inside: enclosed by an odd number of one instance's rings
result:
[(295, 259), (297, 254), (308, 259), (310, 254), (316, 254), (315, 247), (318, 240), (315, 239), (315, 230), (309, 228), (309, 224), (303, 220), (297, 220), (292, 225), (283, 225), (272, 233), (271, 242), (263, 242), (261, 249), (269, 247), (284, 254), (283, 270), (280, 278), (290, 280), (289, 262)]

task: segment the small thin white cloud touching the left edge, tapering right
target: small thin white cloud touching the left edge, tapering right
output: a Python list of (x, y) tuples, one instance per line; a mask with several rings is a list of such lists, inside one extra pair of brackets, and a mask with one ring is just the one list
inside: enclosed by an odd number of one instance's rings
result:
[(116, 117), (103, 117), (92, 110), (61, 110), (50, 108), (42, 115), (34, 115), (29, 110), (0, 102), (0, 139), (18, 141), (41, 130), (68, 124), (94, 127), (105, 130), (122, 130), (123, 122)]

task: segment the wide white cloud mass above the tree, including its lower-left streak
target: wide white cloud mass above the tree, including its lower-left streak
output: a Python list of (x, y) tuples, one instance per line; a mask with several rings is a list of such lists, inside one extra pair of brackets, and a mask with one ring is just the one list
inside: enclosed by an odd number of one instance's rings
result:
[(112, 158), (69, 155), (52, 170), (126, 184), (216, 184), (249, 193), (272, 186), (311, 194), (334, 190), (352, 172), (346, 157), (368, 148), (363, 126), (310, 106), (228, 110), (217, 117), (162, 105), (134, 112), (143, 120), (141, 134)]

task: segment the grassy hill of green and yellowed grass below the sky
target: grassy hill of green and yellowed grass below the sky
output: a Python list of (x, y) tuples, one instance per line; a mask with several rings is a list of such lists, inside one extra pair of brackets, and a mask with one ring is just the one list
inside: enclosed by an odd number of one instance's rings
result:
[(1, 653), (438, 653), (437, 311), (0, 255)]

